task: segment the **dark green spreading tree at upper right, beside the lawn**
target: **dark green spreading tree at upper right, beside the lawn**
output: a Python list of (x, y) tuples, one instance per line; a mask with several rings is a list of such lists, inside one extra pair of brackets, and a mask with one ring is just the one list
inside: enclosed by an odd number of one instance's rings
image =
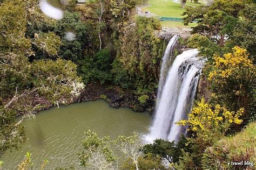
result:
[(244, 8), (245, 4), (242, 0), (216, 0), (210, 6), (188, 7), (183, 13), (184, 25), (198, 19), (198, 25), (193, 27), (192, 33), (203, 34), (223, 45), (225, 34), (228, 33), (225, 26), (232, 22), (230, 18), (238, 19), (240, 10)]

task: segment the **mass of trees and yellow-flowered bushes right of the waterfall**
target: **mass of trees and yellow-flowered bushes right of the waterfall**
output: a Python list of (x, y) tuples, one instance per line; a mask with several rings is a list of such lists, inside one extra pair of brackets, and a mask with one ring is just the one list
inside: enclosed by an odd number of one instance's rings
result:
[(210, 6), (187, 8), (184, 15), (185, 24), (199, 19), (187, 45), (208, 59), (201, 81), (208, 84), (211, 96), (206, 102), (199, 98), (188, 119), (178, 122), (189, 127), (190, 150), (174, 168), (250, 169), (251, 165), (234, 166), (231, 161), (253, 161), (255, 139), (247, 143), (244, 132), (227, 135), (245, 128), (251, 138), (255, 131), (255, 123), (246, 127), (255, 121), (255, 4), (216, 0)]

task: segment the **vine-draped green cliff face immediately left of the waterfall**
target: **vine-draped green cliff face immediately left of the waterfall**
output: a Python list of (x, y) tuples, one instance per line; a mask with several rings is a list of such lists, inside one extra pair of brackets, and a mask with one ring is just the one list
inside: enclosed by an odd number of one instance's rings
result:
[[(165, 48), (164, 42), (154, 33), (160, 28), (156, 18), (143, 17), (136, 19), (136, 25), (125, 27), (120, 37), (122, 45), (117, 54), (118, 65), (113, 65), (113, 74), (117, 77), (115, 83), (124, 86), (123, 80), (126, 80), (126, 84), (132, 83), (139, 93), (157, 87), (159, 63)], [(121, 76), (129, 77), (121, 79)]]

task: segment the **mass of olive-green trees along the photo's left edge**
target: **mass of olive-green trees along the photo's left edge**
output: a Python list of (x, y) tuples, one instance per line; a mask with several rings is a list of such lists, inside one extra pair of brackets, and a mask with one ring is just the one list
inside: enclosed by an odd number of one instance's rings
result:
[(37, 30), (34, 37), (25, 36), (27, 26), (34, 19), (54, 23), (42, 17), (37, 1), (4, 1), (0, 4), (0, 110), (1, 155), (9, 148), (18, 149), (25, 141), (18, 114), (31, 115), (44, 107), (33, 104), (33, 97), (42, 97), (52, 104), (70, 103), (84, 88), (77, 76), (76, 65), (62, 59), (36, 60), (38, 51), (45, 56), (57, 56), (60, 38), (53, 32)]

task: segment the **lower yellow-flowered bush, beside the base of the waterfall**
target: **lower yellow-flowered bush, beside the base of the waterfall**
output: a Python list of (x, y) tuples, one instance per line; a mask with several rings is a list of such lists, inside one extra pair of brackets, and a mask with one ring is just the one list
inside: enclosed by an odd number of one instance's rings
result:
[(242, 119), (239, 119), (239, 117), (243, 112), (244, 108), (235, 112), (228, 111), (219, 104), (213, 107), (211, 104), (205, 103), (204, 98), (202, 98), (201, 102), (197, 103), (196, 107), (188, 114), (188, 119), (179, 121), (177, 124), (188, 125), (190, 127), (188, 131), (196, 132), (204, 140), (207, 140), (207, 137), (214, 132), (224, 133), (231, 123), (241, 124)]

